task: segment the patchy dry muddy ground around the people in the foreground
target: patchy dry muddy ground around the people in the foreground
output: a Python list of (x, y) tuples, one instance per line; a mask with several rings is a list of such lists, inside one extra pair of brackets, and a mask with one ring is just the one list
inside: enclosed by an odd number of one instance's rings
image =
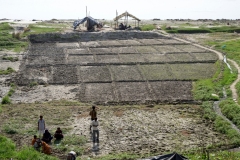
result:
[[(29, 145), (37, 132), (38, 115), (42, 114), (51, 133), (60, 126), (66, 139), (86, 137), (84, 145), (75, 142), (75, 145), (64, 143), (63, 146), (67, 151), (83, 149), (80, 155), (83, 159), (116, 152), (131, 152), (143, 157), (148, 153), (181, 152), (226, 139), (202, 118), (198, 105), (98, 106), (100, 143), (96, 149), (89, 132), (90, 108), (90, 105), (66, 102), (4, 106), (0, 133), (13, 139), (18, 147)], [(16, 134), (6, 134), (11, 127)], [(58, 150), (54, 143), (51, 147), (52, 155), (65, 158), (66, 153)]]

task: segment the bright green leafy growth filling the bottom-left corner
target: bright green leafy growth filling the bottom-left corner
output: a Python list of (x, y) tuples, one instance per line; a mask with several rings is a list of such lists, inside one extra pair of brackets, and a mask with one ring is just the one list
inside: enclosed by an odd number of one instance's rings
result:
[(23, 147), (19, 151), (16, 150), (15, 144), (8, 138), (0, 135), (0, 159), (38, 159), (38, 160), (57, 160), (57, 158), (48, 156), (35, 151), (32, 147)]

